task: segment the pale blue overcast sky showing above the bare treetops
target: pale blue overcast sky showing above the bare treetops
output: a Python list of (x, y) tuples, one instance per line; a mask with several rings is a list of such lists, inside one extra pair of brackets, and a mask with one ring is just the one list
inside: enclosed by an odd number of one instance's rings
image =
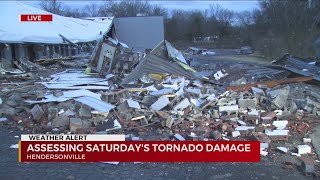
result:
[[(39, 7), (40, 1), (22, 1), (31, 6)], [(86, 4), (90, 2), (101, 3), (102, 1), (62, 1), (63, 4), (73, 7), (73, 8), (82, 8)], [(258, 1), (255, 0), (247, 0), (247, 1), (231, 1), (231, 0), (224, 0), (224, 1), (149, 1), (152, 4), (162, 4), (163, 7), (168, 8), (169, 10), (172, 9), (183, 9), (183, 10), (190, 10), (190, 9), (199, 9), (205, 10), (209, 7), (210, 4), (216, 3), (220, 4), (224, 8), (228, 8), (233, 11), (241, 12), (245, 10), (253, 10), (258, 8)]]

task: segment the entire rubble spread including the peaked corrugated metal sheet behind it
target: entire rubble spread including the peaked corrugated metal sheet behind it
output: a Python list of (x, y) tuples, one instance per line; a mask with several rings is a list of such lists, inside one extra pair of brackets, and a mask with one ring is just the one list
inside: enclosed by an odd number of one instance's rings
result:
[[(0, 123), (28, 133), (125, 133), (131, 140), (257, 140), (263, 156), (313, 152), (309, 130), (319, 122), (320, 91), (303, 83), (312, 77), (228, 87), (232, 72), (195, 74), (164, 41), (130, 74), (67, 69), (29, 85), (2, 84)], [(310, 164), (304, 162), (307, 172)]]

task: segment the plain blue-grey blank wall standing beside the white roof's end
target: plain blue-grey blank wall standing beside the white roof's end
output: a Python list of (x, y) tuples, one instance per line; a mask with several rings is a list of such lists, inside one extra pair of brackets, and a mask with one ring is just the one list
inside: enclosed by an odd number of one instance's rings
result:
[(120, 17), (114, 24), (118, 40), (134, 51), (150, 51), (164, 40), (162, 16)]

